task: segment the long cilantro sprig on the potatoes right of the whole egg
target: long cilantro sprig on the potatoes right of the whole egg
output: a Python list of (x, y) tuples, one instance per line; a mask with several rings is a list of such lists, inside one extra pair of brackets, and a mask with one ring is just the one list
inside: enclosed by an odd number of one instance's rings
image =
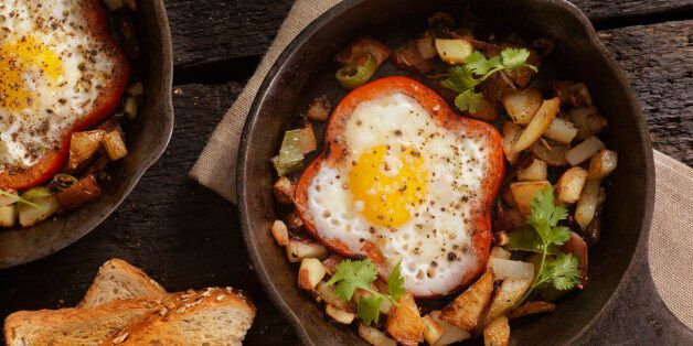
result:
[[(556, 253), (558, 247), (571, 238), (571, 230), (565, 226), (558, 226), (558, 223), (567, 215), (566, 208), (555, 204), (554, 191), (551, 186), (541, 191), (536, 199), (532, 202), (527, 224), (539, 237), (534, 237), (535, 242), (526, 246), (526, 250), (541, 253), (542, 259), (534, 282), (515, 306), (524, 302), (532, 291), (542, 284), (551, 283), (556, 290), (565, 291), (579, 283), (579, 262), (576, 257), (572, 253), (557, 253), (553, 259), (547, 258), (548, 255)], [(526, 240), (526, 234), (520, 235)], [(511, 234), (511, 242), (513, 234)]]

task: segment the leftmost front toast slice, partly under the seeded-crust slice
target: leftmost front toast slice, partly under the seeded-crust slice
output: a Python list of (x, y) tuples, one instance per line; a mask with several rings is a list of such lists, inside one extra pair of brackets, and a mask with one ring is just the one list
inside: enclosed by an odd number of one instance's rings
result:
[(9, 346), (97, 345), (160, 305), (159, 300), (136, 299), (96, 307), (20, 311), (4, 320), (4, 338)]

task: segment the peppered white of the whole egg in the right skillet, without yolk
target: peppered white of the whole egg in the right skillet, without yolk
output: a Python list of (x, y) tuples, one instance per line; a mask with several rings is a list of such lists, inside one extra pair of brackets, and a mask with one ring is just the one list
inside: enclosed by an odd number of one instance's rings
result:
[[(387, 260), (381, 274), (402, 261), (405, 288), (415, 295), (456, 289), (480, 260), (471, 244), (469, 213), (488, 165), (483, 139), (441, 127), (416, 99), (393, 93), (359, 105), (339, 141), (348, 158), (337, 164), (323, 162), (308, 188), (305, 217), (318, 236), (340, 240), (360, 256), (363, 244), (372, 241)], [(352, 160), (382, 144), (417, 149), (428, 171), (424, 203), (413, 207), (411, 219), (396, 229), (364, 217), (363, 202), (354, 201), (349, 188)]]

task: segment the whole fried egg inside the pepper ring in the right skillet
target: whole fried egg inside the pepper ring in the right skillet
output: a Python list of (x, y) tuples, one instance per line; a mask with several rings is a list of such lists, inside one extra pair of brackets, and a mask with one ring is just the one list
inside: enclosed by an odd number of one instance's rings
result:
[(338, 126), (339, 159), (301, 177), (310, 180), (299, 208), (311, 231), (345, 255), (380, 258), (383, 277), (401, 262), (416, 296), (446, 294), (476, 274), (488, 251), (475, 239), (486, 213), (479, 194), (498, 171), (490, 139), (396, 90), (361, 101)]

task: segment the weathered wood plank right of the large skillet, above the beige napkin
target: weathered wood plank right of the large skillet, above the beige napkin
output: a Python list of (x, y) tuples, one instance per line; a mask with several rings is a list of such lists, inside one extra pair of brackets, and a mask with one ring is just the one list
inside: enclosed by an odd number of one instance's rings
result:
[(693, 20), (600, 37), (638, 94), (654, 148), (693, 166)]

